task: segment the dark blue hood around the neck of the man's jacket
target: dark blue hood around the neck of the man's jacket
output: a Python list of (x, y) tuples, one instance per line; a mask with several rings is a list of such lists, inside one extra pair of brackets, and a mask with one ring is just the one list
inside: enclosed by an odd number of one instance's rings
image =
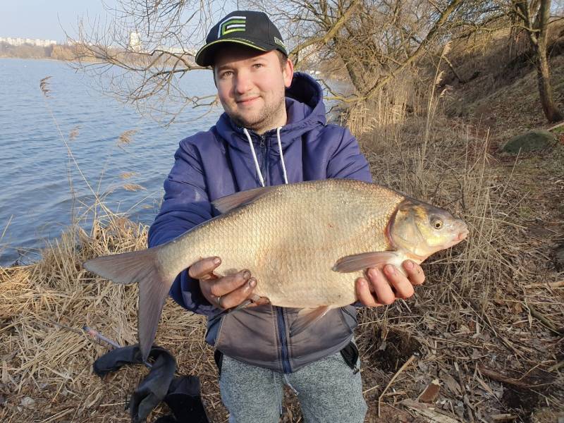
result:
[[(282, 145), (288, 145), (314, 127), (326, 124), (323, 90), (311, 76), (294, 73), (290, 87), (286, 88), (286, 114), (288, 121), (280, 131)], [(220, 116), (215, 128), (223, 140), (233, 147), (248, 148), (243, 128), (235, 125), (226, 113)], [(266, 136), (273, 134), (276, 134), (276, 129), (266, 132)], [(246, 147), (240, 145), (241, 142), (244, 142)]]

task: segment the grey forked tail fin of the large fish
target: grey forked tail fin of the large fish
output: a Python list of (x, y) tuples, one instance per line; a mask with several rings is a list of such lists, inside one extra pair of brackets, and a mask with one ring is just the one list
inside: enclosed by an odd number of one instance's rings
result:
[(159, 263), (160, 249), (161, 247), (154, 247), (137, 252), (97, 257), (83, 264), (85, 269), (115, 283), (138, 284), (137, 331), (144, 361), (149, 356), (161, 311), (176, 278), (176, 274), (167, 272)]

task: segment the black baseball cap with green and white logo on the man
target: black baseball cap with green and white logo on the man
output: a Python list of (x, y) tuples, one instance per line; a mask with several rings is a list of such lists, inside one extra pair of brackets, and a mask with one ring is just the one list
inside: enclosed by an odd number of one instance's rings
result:
[(259, 51), (279, 50), (288, 56), (280, 31), (264, 12), (229, 13), (209, 31), (206, 44), (196, 53), (196, 63), (200, 66), (213, 65), (217, 49), (226, 42), (243, 44)]

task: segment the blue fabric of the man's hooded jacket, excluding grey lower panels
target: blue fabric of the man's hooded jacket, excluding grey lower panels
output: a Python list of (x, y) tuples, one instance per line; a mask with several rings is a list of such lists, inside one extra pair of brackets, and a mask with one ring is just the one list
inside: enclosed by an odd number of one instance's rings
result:
[[(309, 75), (295, 73), (290, 88), (286, 90), (286, 111), (288, 123), (281, 129), (280, 137), (289, 183), (326, 178), (350, 178), (367, 182), (372, 180), (368, 163), (360, 153), (353, 135), (341, 126), (326, 124), (321, 87)], [(284, 183), (276, 130), (270, 130), (262, 136), (250, 131), (250, 135), (265, 185)], [(149, 247), (166, 243), (214, 217), (214, 209), (210, 203), (217, 198), (260, 186), (243, 128), (236, 126), (225, 113), (208, 131), (182, 140), (175, 159), (171, 173), (164, 182), (164, 202), (149, 229)], [(221, 350), (215, 341), (219, 326), (224, 326), (225, 319), (223, 315), (218, 317), (218, 309), (203, 297), (199, 284), (188, 276), (188, 271), (181, 272), (176, 278), (171, 288), (171, 296), (186, 309), (209, 317), (207, 341), (212, 345), (215, 343), (216, 348)], [(286, 319), (286, 312), (276, 310), (280, 307), (267, 307), (267, 314), (271, 314), (272, 318), (281, 324), (288, 323), (281, 321)], [(264, 307), (253, 307), (250, 310), (262, 308)], [(241, 310), (228, 316), (247, 313)], [(283, 319), (281, 314), (284, 314)], [(343, 329), (346, 332), (345, 337), (337, 336), (338, 344), (344, 343), (341, 348), (346, 345), (345, 338), (350, 341), (350, 326), (354, 327), (355, 322), (348, 326)], [(232, 328), (232, 331), (237, 330)], [(278, 348), (283, 348), (283, 345), (279, 344), (288, 343), (288, 340), (283, 338), (281, 333), (281, 339), (276, 342)], [(321, 348), (325, 355), (336, 352), (337, 345), (329, 345), (330, 352), (327, 346), (324, 344)], [(240, 356), (253, 355), (252, 351), (238, 350), (233, 353), (230, 347), (224, 347), (223, 352), (235, 358), (239, 357), (240, 360), (253, 362), (248, 357), (245, 360), (245, 357)], [(283, 351), (278, 353), (284, 355)], [(283, 372), (295, 371), (304, 365), (302, 362), (293, 362), (292, 357), (286, 359), (287, 362), (282, 363), (270, 359), (253, 363)], [(313, 360), (309, 360), (311, 361)]]

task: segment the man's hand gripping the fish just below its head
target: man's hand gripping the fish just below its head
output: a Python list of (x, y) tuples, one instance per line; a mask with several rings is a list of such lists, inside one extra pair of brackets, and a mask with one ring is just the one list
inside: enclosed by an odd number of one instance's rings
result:
[(386, 264), (384, 269), (368, 269), (367, 278), (358, 278), (356, 281), (357, 298), (368, 307), (387, 305), (398, 298), (410, 298), (413, 286), (421, 285), (425, 275), (419, 264), (406, 260), (402, 264), (407, 277), (396, 266)]

